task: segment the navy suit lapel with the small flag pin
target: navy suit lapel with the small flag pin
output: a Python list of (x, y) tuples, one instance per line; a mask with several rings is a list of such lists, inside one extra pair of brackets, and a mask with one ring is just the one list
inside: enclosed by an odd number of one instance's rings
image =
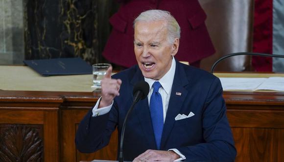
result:
[[(175, 76), (172, 84), (171, 95), (166, 112), (166, 120), (163, 129), (161, 149), (164, 149), (166, 140), (172, 130), (175, 123), (175, 117), (180, 112), (182, 105), (188, 94), (188, 90), (184, 88), (189, 83), (184, 68), (181, 63), (176, 61)], [(179, 95), (181, 94), (181, 95)]]

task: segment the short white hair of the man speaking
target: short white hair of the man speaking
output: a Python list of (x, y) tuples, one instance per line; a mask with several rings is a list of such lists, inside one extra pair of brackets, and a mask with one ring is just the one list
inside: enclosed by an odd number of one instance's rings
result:
[(154, 21), (166, 21), (166, 28), (168, 30), (168, 42), (173, 43), (176, 38), (181, 37), (181, 28), (175, 18), (164, 10), (147, 10), (142, 12), (135, 20), (133, 27), (136, 27), (137, 22), (154, 22)]

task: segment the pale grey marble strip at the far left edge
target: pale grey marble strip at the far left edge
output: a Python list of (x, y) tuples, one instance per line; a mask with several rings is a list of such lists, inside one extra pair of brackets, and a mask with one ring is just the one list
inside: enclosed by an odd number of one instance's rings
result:
[(0, 65), (24, 59), (23, 0), (0, 0)]

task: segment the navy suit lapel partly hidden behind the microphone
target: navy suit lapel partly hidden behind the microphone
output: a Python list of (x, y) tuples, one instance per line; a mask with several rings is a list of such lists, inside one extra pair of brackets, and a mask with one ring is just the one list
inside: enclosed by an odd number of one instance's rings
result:
[[(139, 68), (137, 68), (137, 69), (138, 70), (135, 73), (133, 79), (130, 81), (131, 84), (133, 85), (133, 87), (137, 82), (144, 81), (144, 77), (142, 75), (141, 70)], [(132, 91), (131, 91), (131, 96), (132, 96), (132, 101), (133, 101)], [(148, 140), (149, 148), (150, 149), (157, 149), (155, 137), (154, 137), (154, 132), (153, 132), (153, 127), (152, 127), (151, 115), (150, 115), (150, 111), (149, 111), (148, 98), (146, 97), (145, 99), (139, 101), (136, 104), (134, 111), (135, 111), (135, 113), (136, 113), (136, 115), (139, 118), (139, 121), (141, 123), (142, 133), (144, 134), (144, 136)]]

